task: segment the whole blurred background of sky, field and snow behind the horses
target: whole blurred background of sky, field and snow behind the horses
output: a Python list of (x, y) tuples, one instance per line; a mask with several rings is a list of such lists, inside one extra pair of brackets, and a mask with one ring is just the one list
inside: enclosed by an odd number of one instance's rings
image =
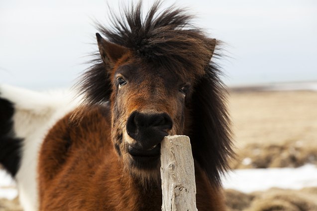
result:
[[(130, 2), (1, 0), (0, 83), (71, 87), (97, 51), (94, 21), (108, 26), (107, 4), (119, 11)], [(316, 211), (317, 1), (165, 0), (163, 7), (173, 3), (225, 43), (217, 62), (237, 152), (223, 177), (228, 210)], [(1, 178), (0, 211), (19, 210), (7, 200), (14, 183)]]

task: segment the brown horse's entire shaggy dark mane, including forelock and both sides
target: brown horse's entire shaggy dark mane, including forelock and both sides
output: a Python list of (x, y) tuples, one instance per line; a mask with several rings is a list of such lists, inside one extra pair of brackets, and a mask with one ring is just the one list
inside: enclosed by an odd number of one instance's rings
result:
[[(143, 18), (141, 2), (111, 15), (111, 28), (98, 24), (98, 30), (112, 43), (123, 46), (132, 55), (196, 80), (191, 99), (186, 99), (190, 110), (190, 136), (193, 155), (214, 185), (220, 184), (220, 174), (228, 167), (233, 155), (230, 141), (230, 120), (226, 110), (226, 92), (211, 55), (217, 46), (205, 33), (191, 24), (186, 10), (170, 7), (160, 11), (156, 1)], [(214, 43), (214, 42), (213, 42)], [(218, 42), (216, 42), (218, 44)], [(96, 54), (93, 66), (79, 82), (89, 104), (109, 100), (111, 85), (102, 58)]]

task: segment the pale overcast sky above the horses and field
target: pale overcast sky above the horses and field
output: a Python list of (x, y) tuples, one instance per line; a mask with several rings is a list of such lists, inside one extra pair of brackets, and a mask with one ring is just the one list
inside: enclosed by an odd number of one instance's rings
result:
[[(118, 9), (117, 0), (108, 2)], [(226, 43), (227, 85), (317, 80), (316, 0), (165, 0), (164, 6), (174, 2)], [(93, 20), (107, 25), (107, 13), (106, 0), (1, 0), (0, 83), (70, 87), (97, 50), (90, 44)]]

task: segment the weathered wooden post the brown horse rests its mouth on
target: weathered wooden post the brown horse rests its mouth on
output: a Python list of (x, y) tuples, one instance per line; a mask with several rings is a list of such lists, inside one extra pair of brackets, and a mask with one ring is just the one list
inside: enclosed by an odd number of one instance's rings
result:
[(187, 136), (161, 143), (162, 211), (197, 211), (192, 147)]

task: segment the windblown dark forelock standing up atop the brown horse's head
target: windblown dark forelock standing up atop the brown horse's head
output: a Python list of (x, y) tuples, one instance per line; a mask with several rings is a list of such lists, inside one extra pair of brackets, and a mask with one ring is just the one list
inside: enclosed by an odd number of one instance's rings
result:
[(210, 39), (192, 25), (194, 16), (186, 9), (161, 7), (156, 1), (144, 16), (140, 1), (120, 14), (110, 12), (112, 27), (98, 24), (98, 30), (146, 62), (187, 77), (204, 74), (211, 58)]

